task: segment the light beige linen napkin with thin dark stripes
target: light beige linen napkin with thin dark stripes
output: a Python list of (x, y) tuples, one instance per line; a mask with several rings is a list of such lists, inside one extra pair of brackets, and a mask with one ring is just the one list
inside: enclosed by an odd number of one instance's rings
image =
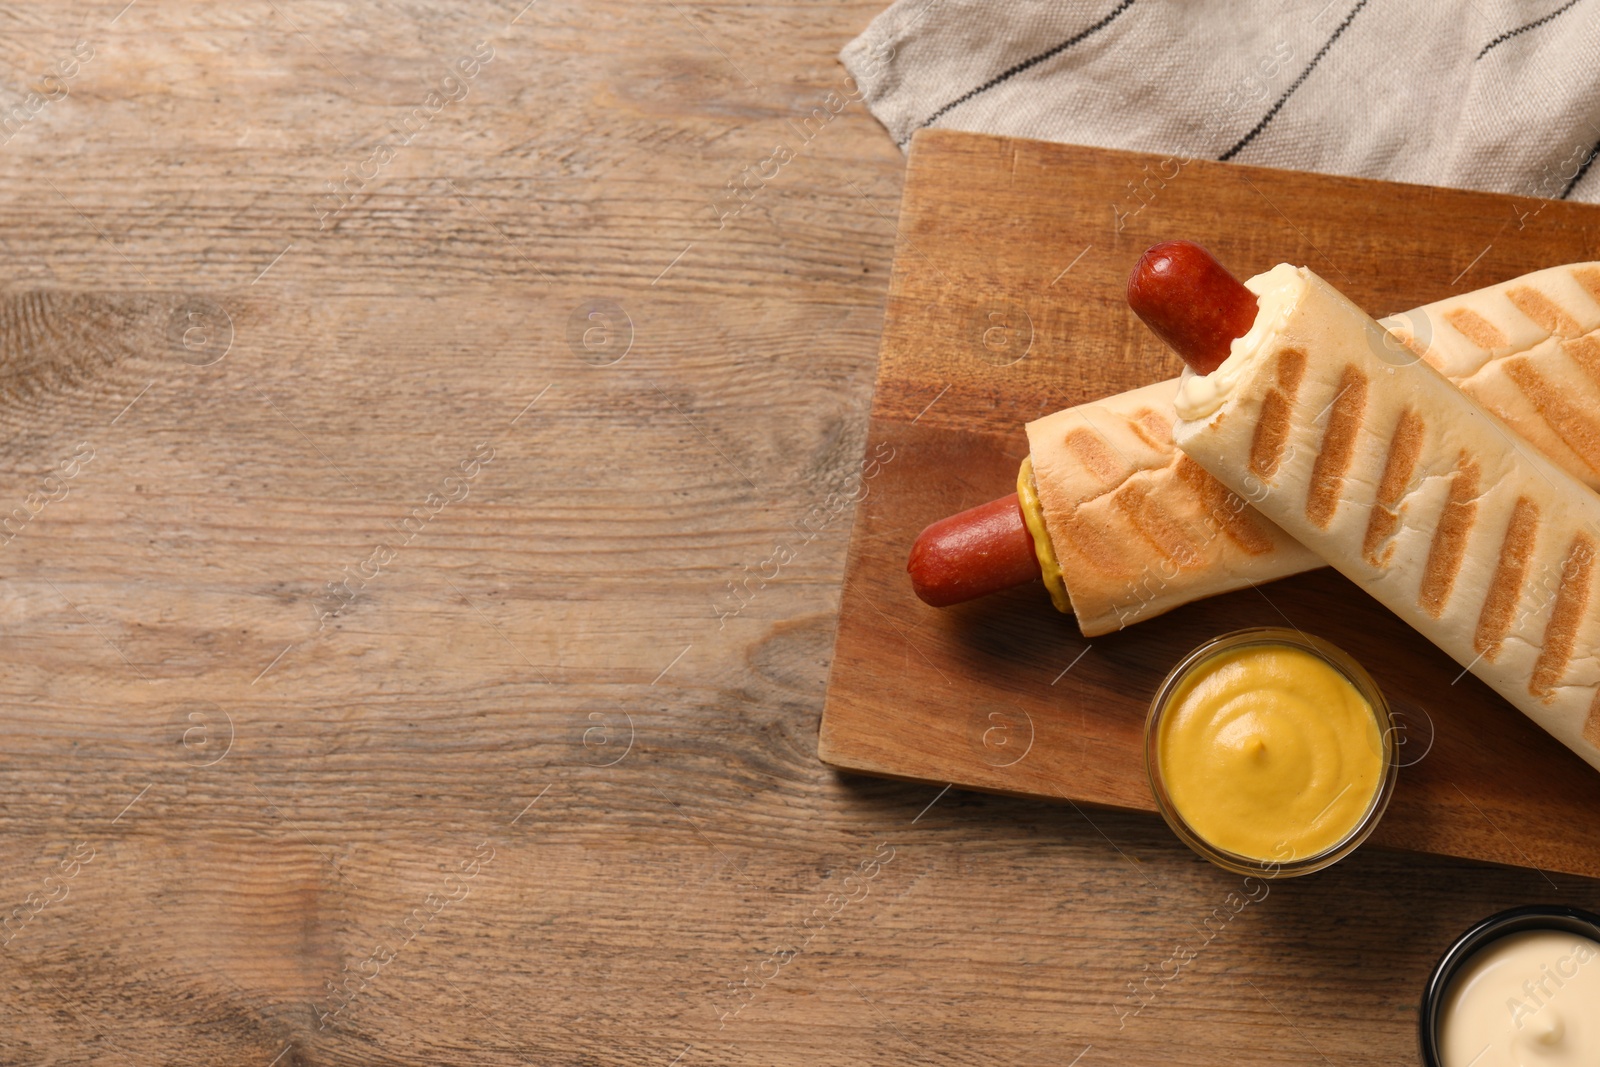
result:
[(898, 0), (840, 53), (930, 126), (1600, 202), (1600, 0)]

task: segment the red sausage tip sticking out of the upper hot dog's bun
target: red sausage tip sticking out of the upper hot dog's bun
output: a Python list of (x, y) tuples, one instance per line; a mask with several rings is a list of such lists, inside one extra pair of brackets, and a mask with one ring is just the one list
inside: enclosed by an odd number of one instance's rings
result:
[(1128, 275), (1128, 307), (1195, 374), (1221, 366), (1256, 322), (1256, 294), (1194, 242), (1147, 248)]

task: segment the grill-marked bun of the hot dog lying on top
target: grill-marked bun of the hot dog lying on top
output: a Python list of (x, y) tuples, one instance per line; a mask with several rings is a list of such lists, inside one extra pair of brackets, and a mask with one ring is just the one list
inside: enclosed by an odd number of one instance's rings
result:
[(1600, 496), (1312, 270), (1246, 286), (1250, 331), (1181, 379), (1178, 448), (1600, 768)]

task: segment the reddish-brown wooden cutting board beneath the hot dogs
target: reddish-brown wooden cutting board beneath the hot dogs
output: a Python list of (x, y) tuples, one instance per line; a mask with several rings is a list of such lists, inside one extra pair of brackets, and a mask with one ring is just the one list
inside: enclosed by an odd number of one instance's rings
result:
[(920, 133), (845, 493), (859, 504), (821, 758), (1154, 813), (1141, 729), (1166, 670), (1216, 633), (1293, 624), (1357, 656), (1400, 715), (1405, 766), (1374, 845), (1600, 877), (1600, 773), (1330, 569), (1093, 641), (1043, 587), (952, 609), (912, 593), (910, 542), (1013, 491), (1024, 422), (1178, 374), (1122, 299), (1139, 251), (1178, 237), (1240, 277), (1307, 264), (1387, 315), (1600, 258), (1600, 208)]

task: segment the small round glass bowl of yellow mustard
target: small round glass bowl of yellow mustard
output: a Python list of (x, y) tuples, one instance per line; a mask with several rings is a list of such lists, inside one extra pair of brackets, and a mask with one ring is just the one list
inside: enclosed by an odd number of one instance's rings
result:
[(1387, 721), (1376, 685), (1339, 649), (1246, 630), (1168, 677), (1146, 760), (1162, 813), (1203, 856), (1307, 873), (1354, 848), (1387, 803)]

